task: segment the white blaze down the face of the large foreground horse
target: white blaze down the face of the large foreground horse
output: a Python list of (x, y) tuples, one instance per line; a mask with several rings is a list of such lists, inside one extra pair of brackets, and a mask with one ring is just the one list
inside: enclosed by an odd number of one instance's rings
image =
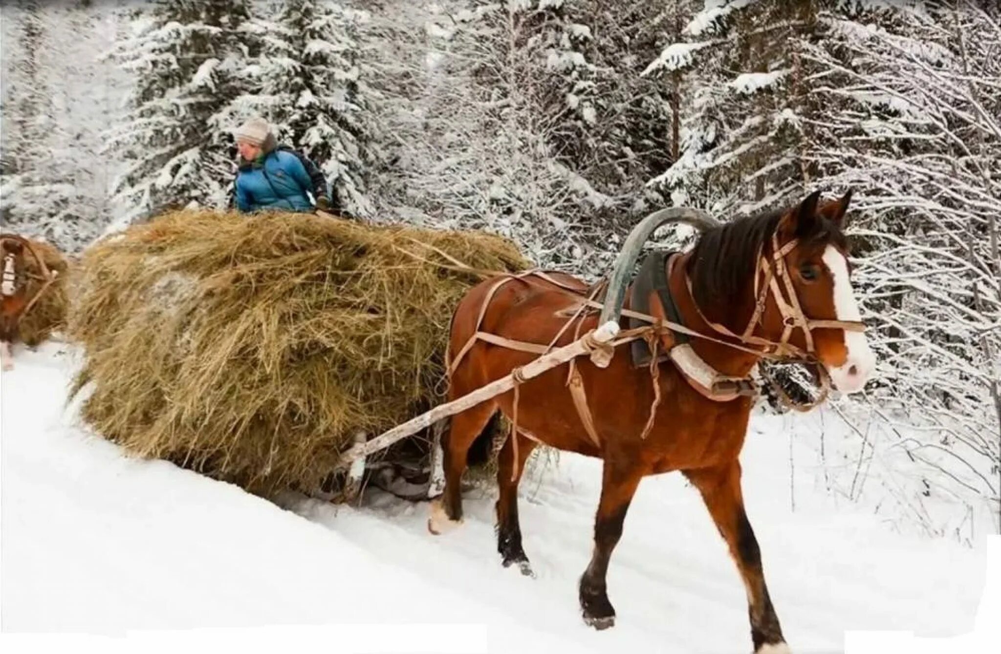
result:
[[(824, 250), (824, 264), (831, 271), (834, 279), (834, 311), (839, 320), (861, 320), (858, 302), (848, 276), (848, 261), (834, 245), (828, 245)], [(842, 393), (861, 391), (869, 379), (869, 374), (876, 367), (876, 356), (869, 347), (869, 341), (862, 332), (845, 332), (845, 350), (848, 357), (845, 363), (830, 370), (831, 381)]]

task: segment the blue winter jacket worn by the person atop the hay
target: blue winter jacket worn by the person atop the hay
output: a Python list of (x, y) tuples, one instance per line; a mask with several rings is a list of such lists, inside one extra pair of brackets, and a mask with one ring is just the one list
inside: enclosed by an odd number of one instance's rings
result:
[[(265, 145), (266, 147), (266, 145)], [(236, 173), (236, 206), (241, 211), (313, 210), (306, 193), (312, 181), (302, 161), (287, 150), (269, 149)]]

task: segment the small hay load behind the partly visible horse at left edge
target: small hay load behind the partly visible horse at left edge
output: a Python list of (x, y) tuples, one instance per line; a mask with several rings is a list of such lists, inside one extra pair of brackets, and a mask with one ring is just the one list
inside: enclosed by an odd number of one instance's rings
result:
[[(24, 345), (34, 348), (47, 341), (53, 334), (66, 326), (70, 302), (71, 261), (54, 245), (42, 240), (25, 238), (46, 267), (57, 276), (38, 297), (17, 323), (17, 338)], [(29, 301), (44, 284), (41, 266), (27, 247), (24, 249), (25, 271), (28, 273), (26, 296)]]

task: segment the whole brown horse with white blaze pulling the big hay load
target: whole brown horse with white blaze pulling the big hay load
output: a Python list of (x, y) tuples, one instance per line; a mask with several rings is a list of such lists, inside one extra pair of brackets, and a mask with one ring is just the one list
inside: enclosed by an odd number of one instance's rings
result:
[[(849, 279), (842, 229), (850, 196), (849, 191), (840, 200), (821, 203), (814, 193), (789, 210), (705, 230), (691, 251), (671, 257), (659, 270), (667, 293), (655, 285), (638, 297), (638, 275), (627, 303), (649, 306), (653, 318), (670, 318), (690, 331), (688, 336), (678, 329), (660, 331), (649, 342), (653, 363), (631, 361), (628, 349), (620, 348), (605, 368), (575, 361), (571, 371), (561, 366), (517, 392), (453, 416), (442, 443), (444, 491), (431, 505), (428, 529), (441, 533), (461, 521), (459, 482), (466, 453), (497, 411), (517, 426), (499, 453), (497, 473), (497, 550), (505, 566), (517, 564), (531, 574), (522, 547), (518, 484), (533, 449), (546, 444), (602, 459), (594, 554), (579, 590), (585, 621), (603, 629), (615, 622), (606, 592), (609, 560), (640, 481), (681, 471), (702, 494), (744, 580), (755, 651), (788, 651), (741, 492), (738, 458), (754, 394), (740, 385), (729, 394), (714, 392), (700, 385), (698, 376), (657, 355), (687, 340), (704, 370), (732, 381), (751, 379), (767, 355), (794, 353), (822, 367), (838, 390), (860, 390), (875, 358), (859, 333)], [(563, 346), (597, 328), (598, 316), (583, 301), (593, 289), (561, 273), (507, 283), (494, 278), (472, 288), (452, 316), (449, 353), (456, 355), (449, 362), (449, 398), (539, 356), (502, 340)], [(674, 306), (665, 306), (666, 301)], [(491, 336), (473, 339), (477, 333)], [(575, 384), (581, 387), (576, 392)]]

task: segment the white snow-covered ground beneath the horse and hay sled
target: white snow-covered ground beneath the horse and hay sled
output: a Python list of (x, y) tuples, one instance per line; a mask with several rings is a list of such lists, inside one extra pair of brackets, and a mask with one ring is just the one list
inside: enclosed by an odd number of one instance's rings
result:
[[(387, 496), (339, 508), (289, 497), (279, 508), (164, 462), (125, 459), (80, 429), (64, 411), (71, 358), (57, 346), (18, 350), (16, 362), (2, 377), (0, 422), (5, 632), (374, 623), (384, 626), (366, 642), (383, 645), (364, 651), (751, 649), (736, 569), (681, 476), (641, 486), (609, 573), (618, 624), (598, 633), (577, 606), (598, 462), (563, 455), (523, 483), (533, 580), (500, 567), (488, 494), (470, 496), (465, 525), (440, 537), (425, 529), (426, 505)], [(742, 461), (793, 651), (842, 651), (854, 630), (969, 631), (985, 547), (894, 533), (834, 502), (812, 475), (791, 477), (788, 420), (755, 418)], [(464, 645), (420, 649), (421, 634), (433, 638), (424, 624), (457, 625), (442, 633)], [(399, 629), (413, 649), (384, 644)]]

